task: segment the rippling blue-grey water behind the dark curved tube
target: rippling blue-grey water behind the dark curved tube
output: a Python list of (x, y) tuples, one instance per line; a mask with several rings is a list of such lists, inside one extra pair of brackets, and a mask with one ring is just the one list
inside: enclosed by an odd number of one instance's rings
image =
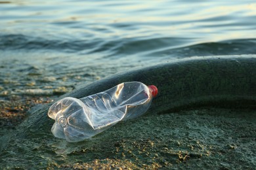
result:
[(253, 0), (0, 1), (0, 95), (65, 93), (177, 58), (256, 54), (255, 30)]

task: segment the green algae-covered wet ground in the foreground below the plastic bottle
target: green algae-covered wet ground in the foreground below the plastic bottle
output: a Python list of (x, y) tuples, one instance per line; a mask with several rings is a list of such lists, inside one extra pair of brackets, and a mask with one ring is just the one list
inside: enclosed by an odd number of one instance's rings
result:
[(89, 141), (51, 140), (37, 146), (31, 142), (28, 155), (4, 151), (2, 167), (253, 169), (256, 111), (202, 108), (148, 114), (121, 122)]

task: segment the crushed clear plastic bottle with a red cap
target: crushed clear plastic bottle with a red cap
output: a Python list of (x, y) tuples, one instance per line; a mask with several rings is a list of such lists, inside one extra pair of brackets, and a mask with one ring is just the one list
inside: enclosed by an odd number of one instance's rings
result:
[(121, 120), (136, 118), (150, 107), (156, 86), (124, 82), (81, 99), (65, 97), (54, 103), (48, 116), (55, 120), (55, 137), (74, 143), (93, 137)]

